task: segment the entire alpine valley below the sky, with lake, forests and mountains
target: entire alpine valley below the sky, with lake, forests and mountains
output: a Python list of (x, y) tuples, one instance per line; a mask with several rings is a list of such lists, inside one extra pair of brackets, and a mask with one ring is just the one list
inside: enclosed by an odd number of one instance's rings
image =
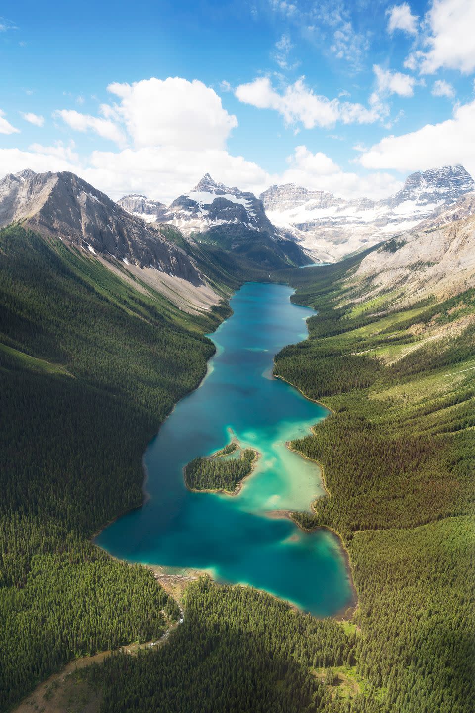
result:
[(0, 181), (2, 711), (472, 712), (474, 181), (324, 188)]

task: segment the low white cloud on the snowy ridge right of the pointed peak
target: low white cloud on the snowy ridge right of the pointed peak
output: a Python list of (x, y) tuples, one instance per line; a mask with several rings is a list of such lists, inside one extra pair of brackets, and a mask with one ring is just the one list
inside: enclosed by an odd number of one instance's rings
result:
[(402, 185), (389, 173), (361, 176), (344, 171), (324, 153), (312, 153), (306, 146), (297, 146), (287, 162), (288, 169), (274, 177), (273, 183), (297, 183), (314, 190), (331, 191), (343, 198), (364, 195), (373, 200), (396, 193)]

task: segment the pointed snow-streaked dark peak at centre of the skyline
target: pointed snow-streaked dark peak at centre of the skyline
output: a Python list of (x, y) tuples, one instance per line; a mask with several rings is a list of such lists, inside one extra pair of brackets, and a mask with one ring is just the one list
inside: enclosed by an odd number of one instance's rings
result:
[(228, 224), (277, 234), (266, 216), (262, 201), (254, 193), (216, 183), (209, 173), (189, 193), (179, 195), (168, 207), (142, 195), (125, 195), (118, 200), (118, 204), (140, 217), (146, 213), (147, 220), (172, 223), (188, 235)]

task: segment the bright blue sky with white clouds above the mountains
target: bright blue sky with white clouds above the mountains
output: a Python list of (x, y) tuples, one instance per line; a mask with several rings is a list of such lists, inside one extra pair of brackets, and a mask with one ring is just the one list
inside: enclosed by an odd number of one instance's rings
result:
[(4, 0), (0, 175), (169, 202), (204, 173), (384, 198), (475, 176), (473, 0)]

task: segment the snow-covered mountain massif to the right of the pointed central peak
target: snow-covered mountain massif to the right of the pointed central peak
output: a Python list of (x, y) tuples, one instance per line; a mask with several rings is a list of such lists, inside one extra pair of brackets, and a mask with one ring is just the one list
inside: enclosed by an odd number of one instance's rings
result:
[(295, 183), (273, 185), (259, 198), (274, 225), (316, 259), (333, 262), (411, 230), (474, 188), (471, 175), (457, 164), (412, 173), (400, 191), (379, 201), (345, 200)]

